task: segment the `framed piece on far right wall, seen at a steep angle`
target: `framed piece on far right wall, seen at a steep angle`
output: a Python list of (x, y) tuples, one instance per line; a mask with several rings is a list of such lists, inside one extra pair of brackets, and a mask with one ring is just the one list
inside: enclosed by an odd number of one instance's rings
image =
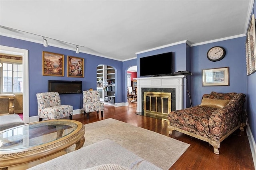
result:
[(255, 18), (254, 14), (252, 15), (250, 25), (248, 28), (248, 42), (249, 42), (249, 59), (250, 59), (250, 74), (254, 73), (256, 71), (256, 33), (255, 33)]

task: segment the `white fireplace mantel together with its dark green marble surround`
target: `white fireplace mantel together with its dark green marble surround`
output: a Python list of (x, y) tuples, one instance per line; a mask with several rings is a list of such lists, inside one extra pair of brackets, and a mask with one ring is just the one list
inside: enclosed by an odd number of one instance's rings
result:
[(185, 75), (134, 78), (137, 80), (137, 114), (144, 115), (143, 92), (148, 90), (171, 92), (172, 100), (175, 101), (172, 101), (172, 111), (183, 109), (184, 78)]

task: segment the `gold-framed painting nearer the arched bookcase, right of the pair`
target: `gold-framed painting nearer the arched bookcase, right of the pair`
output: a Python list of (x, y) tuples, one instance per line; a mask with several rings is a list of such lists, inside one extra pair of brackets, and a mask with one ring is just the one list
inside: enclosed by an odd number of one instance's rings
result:
[(84, 59), (68, 56), (68, 77), (84, 77)]

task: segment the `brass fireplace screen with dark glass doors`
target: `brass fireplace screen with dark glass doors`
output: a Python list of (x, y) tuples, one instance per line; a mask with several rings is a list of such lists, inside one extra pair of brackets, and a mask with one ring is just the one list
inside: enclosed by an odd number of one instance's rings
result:
[(167, 120), (171, 111), (171, 94), (166, 92), (144, 92), (144, 115)]

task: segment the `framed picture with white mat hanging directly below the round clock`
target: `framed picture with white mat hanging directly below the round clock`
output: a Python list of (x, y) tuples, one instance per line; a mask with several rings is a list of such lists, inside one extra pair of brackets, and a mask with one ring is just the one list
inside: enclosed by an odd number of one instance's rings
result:
[(202, 69), (203, 86), (229, 86), (229, 67)]

